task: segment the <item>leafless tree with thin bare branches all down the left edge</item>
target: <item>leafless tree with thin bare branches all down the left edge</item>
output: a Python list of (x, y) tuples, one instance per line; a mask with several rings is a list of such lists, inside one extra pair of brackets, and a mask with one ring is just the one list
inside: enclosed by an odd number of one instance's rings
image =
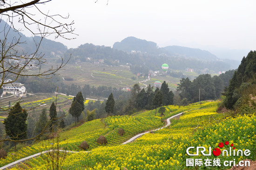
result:
[[(8, 20), (8, 24), (10, 25), (8, 26), (6, 24), (4, 28), (0, 28), (0, 34), (4, 35), (4, 38), (0, 39), (0, 88), (6, 84), (13, 85), (20, 76), (36, 76), (45, 78), (48, 75), (54, 75), (69, 61), (70, 58), (67, 59), (67, 61), (61, 59), (61, 62), (58, 65), (52, 65), (47, 69), (43, 68), (43, 65), (47, 64), (44, 54), (39, 52), (43, 39), (50, 35), (54, 35), (55, 38), (61, 37), (64, 39), (74, 39), (74, 35), (76, 35), (74, 33), (74, 27), (72, 27), (74, 25), (74, 21), (67, 22), (69, 15), (67, 15), (67, 17), (63, 17), (59, 14), (50, 14), (49, 11), (44, 12), (42, 10), (41, 5), (45, 5), (50, 1), (51, 0), (0, 0), (0, 22), (5, 18)], [(34, 11), (31, 9), (34, 9)], [(26, 42), (22, 40), (22, 37), (19, 34), (21, 29), (20, 26), (17, 26), (18, 23), (22, 23), (24, 29), (28, 30), (30, 33), (40, 36), (39, 41), (34, 39), (35, 49), (33, 52), (26, 52), (22, 49), (22, 44)], [(16, 33), (18, 33), (18, 35), (10, 37), (10, 32), (13, 31), (12, 28)], [(28, 72), (31, 67), (36, 68), (36, 72)], [(11, 80), (7, 82), (6, 80), (8, 79)], [(19, 99), (18, 102), (21, 101), (22, 98)], [(55, 101), (55, 104), (57, 104), (56, 102), (57, 101)], [(11, 114), (10, 110), (11, 108), (7, 109), (0, 106), (1, 113), (8, 112), (8, 114)], [(58, 123), (56, 120), (62, 119), (65, 116), (66, 115), (63, 115), (60, 118), (49, 120), (40, 134), (36, 136), (32, 136), (28, 139), (15, 140), (15, 136), (18, 138), (18, 136), (22, 136), (22, 134), (12, 134), (14, 138), (7, 137), (0, 139), (0, 142), (24, 142), (35, 139), (40, 135), (49, 132), (51, 129), (49, 126), (56, 125)], [(53, 122), (57, 123), (53, 124)]]

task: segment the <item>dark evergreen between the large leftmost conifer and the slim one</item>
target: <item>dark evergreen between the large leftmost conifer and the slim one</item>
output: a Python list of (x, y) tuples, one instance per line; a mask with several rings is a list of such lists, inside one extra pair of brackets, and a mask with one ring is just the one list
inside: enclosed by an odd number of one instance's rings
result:
[(48, 118), (46, 113), (46, 108), (42, 109), (42, 112), (39, 116), (38, 121), (35, 126), (36, 135), (40, 134), (42, 131), (47, 131), (49, 127), (47, 127)]

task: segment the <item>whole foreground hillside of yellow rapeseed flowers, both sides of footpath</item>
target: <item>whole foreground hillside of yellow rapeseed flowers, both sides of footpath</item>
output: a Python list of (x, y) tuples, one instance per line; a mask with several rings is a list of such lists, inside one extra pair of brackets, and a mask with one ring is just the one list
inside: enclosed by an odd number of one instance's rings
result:
[[(60, 147), (67, 146), (68, 150), (77, 150), (78, 153), (68, 154), (63, 166), (64, 169), (95, 169), (95, 170), (113, 170), (113, 169), (136, 169), (136, 170), (164, 170), (175, 169), (181, 170), (186, 168), (186, 159), (201, 158), (214, 159), (216, 156), (191, 157), (186, 153), (188, 147), (204, 146), (206, 150), (218, 148), (219, 143), (229, 144), (223, 149), (228, 149), (229, 145), (236, 147), (236, 150), (250, 150), (249, 156), (240, 157), (222, 157), (220, 167), (214, 165), (214, 169), (227, 169), (230, 166), (224, 166), (223, 161), (235, 159), (236, 163), (245, 158), (253, 159), (255, 157), (255, 143), (253, 143), (255, 134), (256, 118), (255, 115), (249, 115), (237, 118), (225, 118), (223, 114), (216, 113), (217, 102), (203, 102), (203, 104), (194, 104), (189, 106), (167, 106), (167, 111), (163, 119), (178, 112), (186, 111), (177, 120), (172, 120), (169, 128), (162, 129), (143, 135), (130, 144), (120, 145), (129, 137), (141, 131), (154, 129), (162, 126), (161, 118), (154, 116), (153, 111), (145, 111), (134, 114), (133, 116), (115, 116), (87, 122), (82, 126), (70, 131), (60, 133)], [(142, 126), (143, 124), (143, 126)], [(243, 128), (240, 128), (242, 124)], [(124, 136), (117, 135), (119, 128), (125, 131)], [(228, 129), (228, 131), (227, 131)], [(236, 132), (236, 133), (235, 133)], [(107, 145), (99, 145), (95, 140), (100, 135), (106, 136)], [(198, 140), (199, 139), (199, 140)], [(88, 141), (89, 150), (87, 153), (78, 148), (82, 141)], [(24, 147), (15, 155), (8, 153), (4, 160), (0, 160), (0, 166), (18, 160), (21, 157), (32, 155), (39, 151), (51, 147), (42, 144), (51, 143), (42, 142), (34, 144), (31, 147)], [(50, 144), (49, 144), (50, 145)], [(46, 168), (43, 157), (37, 157), (26, 161), (13, 170), (38, 169)], [(202, 164), (201, 168), (207, 168), (207, 164)], [(188, 168), (188, 167), (187, 167)], [(208, 167), (209, 168), (209, 167)]]

